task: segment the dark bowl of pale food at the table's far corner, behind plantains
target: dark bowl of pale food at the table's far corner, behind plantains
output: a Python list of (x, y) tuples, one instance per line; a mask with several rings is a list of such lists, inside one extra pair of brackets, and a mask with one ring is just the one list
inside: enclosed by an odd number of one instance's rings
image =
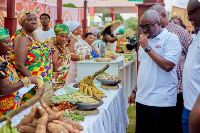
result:
[(115, 86), (121, 82), (118, 76), (116, 75), (109, 75), (109, 74), (102, 74), (96, 78), (102, 85), (107, 86)]

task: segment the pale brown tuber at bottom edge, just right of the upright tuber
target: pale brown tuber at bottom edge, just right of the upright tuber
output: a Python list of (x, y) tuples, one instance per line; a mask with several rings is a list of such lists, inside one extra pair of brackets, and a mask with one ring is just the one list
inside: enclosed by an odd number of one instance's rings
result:
[(47, 130), (52, 133), (69, 133), (67, 129), (63, 127), (62, 125), (55, 124), (52, 122), (49, 122), (47, 124)]

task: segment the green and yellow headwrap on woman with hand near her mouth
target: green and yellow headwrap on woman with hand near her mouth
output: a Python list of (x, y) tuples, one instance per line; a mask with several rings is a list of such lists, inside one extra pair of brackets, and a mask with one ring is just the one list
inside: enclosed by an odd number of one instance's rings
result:
[(56, 24), (54, 26), (54, 32), (56, 35), (62, 34), (62, 33), (67, 33), (69, 34), (69, 28), (65, 24)]

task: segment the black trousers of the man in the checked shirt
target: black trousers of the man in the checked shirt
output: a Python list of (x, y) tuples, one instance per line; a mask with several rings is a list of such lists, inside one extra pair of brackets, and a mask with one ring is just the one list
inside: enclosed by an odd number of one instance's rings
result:
[(177, 94), (176, 113), (177, 113), (176, 114), (177, 133), (183, 133), (183, 128), (182, 128), (183, 94), (182, 92)]

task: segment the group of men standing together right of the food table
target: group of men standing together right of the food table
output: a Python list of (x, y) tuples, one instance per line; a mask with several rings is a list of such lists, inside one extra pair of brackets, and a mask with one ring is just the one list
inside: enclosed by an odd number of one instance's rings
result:
[[(198, 32), (200, 2), (190, 0), (187, 11)], [(136, 103), (136, 133), (200, 132), (199, 33), (192, 38), (182, 21), (168, 20), (158, 4), (140, 23), (137, 85), (128, 100)]]

